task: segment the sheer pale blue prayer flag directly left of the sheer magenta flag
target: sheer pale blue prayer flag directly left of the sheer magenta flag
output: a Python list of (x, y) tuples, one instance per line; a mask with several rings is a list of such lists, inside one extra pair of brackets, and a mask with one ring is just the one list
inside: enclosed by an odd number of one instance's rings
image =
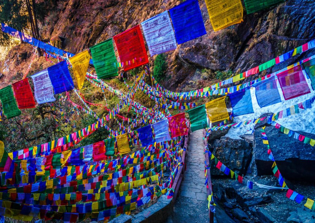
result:
[(255, 87), (258, 105), (261, 108), (281, 102), (277, 82), (274, 76), (253, 86)]

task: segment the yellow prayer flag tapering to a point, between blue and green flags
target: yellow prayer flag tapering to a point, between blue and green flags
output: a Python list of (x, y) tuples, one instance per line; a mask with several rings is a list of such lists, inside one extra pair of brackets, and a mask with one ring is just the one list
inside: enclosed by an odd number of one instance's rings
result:
[(77, 80), (78, 89), (81, 89), (83, 87), (85, 75), (89, 67), (90, 58), (91, 57), (88, 50), (84, 50), (83, 52), (69, 58), (73, 69), (73, 75)]

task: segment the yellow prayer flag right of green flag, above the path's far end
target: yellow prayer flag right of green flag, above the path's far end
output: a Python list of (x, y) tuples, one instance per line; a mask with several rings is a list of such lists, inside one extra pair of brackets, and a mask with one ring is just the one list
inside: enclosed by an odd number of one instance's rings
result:
[(226, 96), (220, 97), (206, 103), (207, 114), (208, 114), (209, 120), (212, 123), (229, 119), (229, 113), (227, 112), (227, 109), (226, 109), (225, 98)]

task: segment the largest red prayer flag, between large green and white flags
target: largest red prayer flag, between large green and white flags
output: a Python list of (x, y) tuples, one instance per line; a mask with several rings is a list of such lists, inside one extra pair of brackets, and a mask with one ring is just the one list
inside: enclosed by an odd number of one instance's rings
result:
[(149, 62), (140, 25), (134, 26), (113, 38), (117, 46), (120, 62), (123, 63), (124, 71)]

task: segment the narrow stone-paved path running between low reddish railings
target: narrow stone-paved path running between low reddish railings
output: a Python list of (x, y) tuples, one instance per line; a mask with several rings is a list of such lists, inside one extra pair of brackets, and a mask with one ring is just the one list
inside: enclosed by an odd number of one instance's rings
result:
[(167, 222), (209, 222), (207, 190), (204, 185), (203, 130), (191, 132), (187, 152), (187, 168)]

